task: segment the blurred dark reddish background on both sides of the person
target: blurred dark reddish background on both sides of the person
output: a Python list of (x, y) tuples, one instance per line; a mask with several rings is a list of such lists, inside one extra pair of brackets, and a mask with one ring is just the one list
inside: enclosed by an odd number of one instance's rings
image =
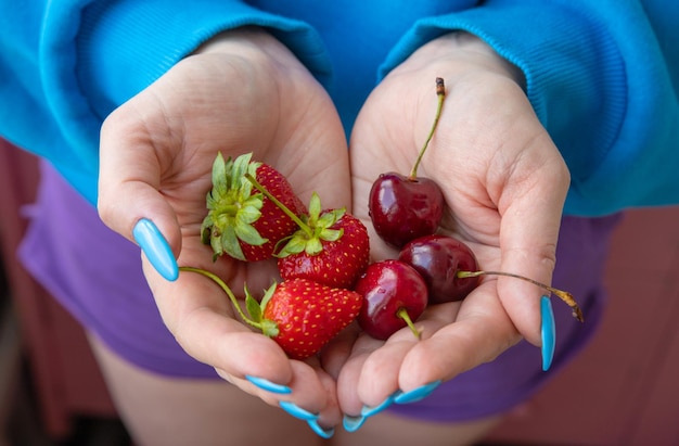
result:
[[(82, 331), (15, 258), (33, 155), (0, 140), (0, 446), (131, 446)], [(594, 341), (486, 446), (679, 445), (679, 207), (629, 212)]]

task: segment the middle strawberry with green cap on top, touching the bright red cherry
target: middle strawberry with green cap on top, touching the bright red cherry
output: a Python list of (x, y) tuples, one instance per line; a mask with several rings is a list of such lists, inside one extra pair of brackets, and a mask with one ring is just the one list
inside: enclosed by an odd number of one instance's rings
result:
[(368, 267), (370, 242), (366, 226), (344, 208), (321, 212), (316, 193), (309, 215), (303, 219), (304, 225), (277, 254), (281, 277), (351, 289)]

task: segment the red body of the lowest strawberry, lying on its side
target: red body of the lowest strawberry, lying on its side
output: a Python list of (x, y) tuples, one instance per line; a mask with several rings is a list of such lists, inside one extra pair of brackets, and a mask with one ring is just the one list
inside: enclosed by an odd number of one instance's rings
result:
[[(265, 334), (270, 335), (293, 359), (317, 354), (358, 316), (362, 297), (350, 290), (333, 289), (306, 279), (272, 286), (259, 308)], [(257, 309), (252, 301), (251, 316)], [(273, 322), (273, 323), (271, 323)]]

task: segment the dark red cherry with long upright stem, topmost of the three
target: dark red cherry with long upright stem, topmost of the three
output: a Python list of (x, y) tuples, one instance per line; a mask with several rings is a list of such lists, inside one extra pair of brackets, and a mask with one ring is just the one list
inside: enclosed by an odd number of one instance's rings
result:
[(369, 215), (377, 234), (388, 244), (401, 247), (419, 237), (433, 234), (444, 215), (444, 193), (428, 178), (418, 177), (418, 166), (438, 124), (446, 87), (436, 78), (438, 106), (430, 135), (409, 176), (394, 171), (380, 175), (368, 199)]

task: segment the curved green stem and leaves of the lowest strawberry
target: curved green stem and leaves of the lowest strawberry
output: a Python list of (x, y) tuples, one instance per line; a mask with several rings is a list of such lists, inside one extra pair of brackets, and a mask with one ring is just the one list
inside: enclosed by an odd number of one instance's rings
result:
[(190, 266), (179, 267), (179, 270), (197, 272), (202, 276), (207, 277), (208, 279), (212, 279), (215, 283), (219, 285), (219, 288), (223, 290), (225, 293), (227, 293), (227, 295), (229, 296), (229, 300), (231, 301), (233, 308), (235, 309), (235, 313), (238, 313), (238, 315), (241, 317), (243, 322), (261, 331), (265, 335), (269, 337), (278, 336), (279, 334), (278, 323), (273, 320), (269, 320), (264, 317), (264, 309), (266, 308), (267, 304), (273, 296), (273, 293), (276, 292), (276, 288), (278, 283), (273, 282), (273, 284), (266, 290), (264, 297), (261, 298), (261, 303), (257, 302), (257, 300), (253, 297), (249, 290), (247, 290), (247, 285), (244, 286), (245, 308), (247, 310), (247, 315), (245, 315), (245, 313), (241, 308), (241, 305), (239, 304), (238, 297), (235, 297), (231, 289), (223, 282), (223, 280), (221, 280), (221, 278), (219, 278), (219, 276), (210, 271), (207, 271), (205, 269), (194, 268)]

